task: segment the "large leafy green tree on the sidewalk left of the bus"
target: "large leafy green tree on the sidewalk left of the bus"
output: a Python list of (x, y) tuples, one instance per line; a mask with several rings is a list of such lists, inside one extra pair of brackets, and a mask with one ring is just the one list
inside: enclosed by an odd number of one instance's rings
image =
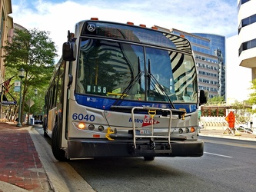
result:
[(6, 41), (2, 47), (6, 71), (17, 74), (21, 68), (25, 70), (22, 80), (22, 116), (28, 91), (43, 88), (52, 76), (57, 50), (48, 35), (48, 31), (39, 31), (37, 28), (17, 29), (12, 40)]

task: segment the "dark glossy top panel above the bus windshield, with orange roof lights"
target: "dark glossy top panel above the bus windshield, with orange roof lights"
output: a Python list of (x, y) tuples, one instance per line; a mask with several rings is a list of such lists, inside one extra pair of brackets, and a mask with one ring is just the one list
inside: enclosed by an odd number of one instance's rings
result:
[(81, 36), (97, 36), (122, 41), (133, 41), (135, 43), (178, 49), (192, 54), (191, 44), (188, 39), (168, 33), (167, 31), (160, 31), (155, 27), (146, 28), (145, 25), (136, 26), (131, 22), (122, 24), (95, 19), (78, 22), (78, 25), (81, 27)]

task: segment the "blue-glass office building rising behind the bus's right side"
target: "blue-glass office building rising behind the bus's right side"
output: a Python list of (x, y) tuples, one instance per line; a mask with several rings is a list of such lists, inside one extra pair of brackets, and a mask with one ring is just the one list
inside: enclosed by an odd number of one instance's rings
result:
[(177, 35), (185, 35), (191, 41), (198, 71), (198, 87), (207, 90), (209, 98), (226, 94), (225, 37), (204, 33), (187, 33), (171, 29)]

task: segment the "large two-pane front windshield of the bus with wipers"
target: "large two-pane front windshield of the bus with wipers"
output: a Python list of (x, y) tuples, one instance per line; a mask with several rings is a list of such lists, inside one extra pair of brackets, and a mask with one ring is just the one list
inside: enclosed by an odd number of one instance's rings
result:
[(196, 103), (194, 60), (171, 49), (81, 38), (76, 93)]

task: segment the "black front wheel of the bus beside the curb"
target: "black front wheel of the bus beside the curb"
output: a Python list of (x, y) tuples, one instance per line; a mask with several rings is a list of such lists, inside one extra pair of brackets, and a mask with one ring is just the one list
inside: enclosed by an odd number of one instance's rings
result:
[(55, 124), (52, 130), (52, 153), (55, 156), (55, 159), (58, 161), (67, 161), (68, 159), (65, 157), (65, 151), (61, 149), (60, 141), (61, 135), (58, 129), (58, 124)]

